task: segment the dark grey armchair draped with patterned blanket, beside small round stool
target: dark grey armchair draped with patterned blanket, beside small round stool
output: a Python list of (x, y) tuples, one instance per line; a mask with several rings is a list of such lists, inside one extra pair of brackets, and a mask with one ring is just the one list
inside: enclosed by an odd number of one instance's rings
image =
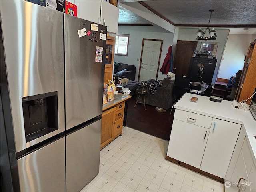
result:
[[(145, 103), (155, 107), (160, 107), (163, 109), (169, 109), (172, 106), (172, 91), (173, 91), (174, 81), (171, 81), (167, 78), (162, 80), (162, 86), (157, 87), (156, 92), (151, 94), (148, 88), (144, 88), (144, 91), (148, 92), (145, 96)], [(136, 92), (141, 90), (138, 88)], [(137, 94), (138, 98), (138, 94)], [(140, 96), (138, 102), (144, 103), (143, 97)]]

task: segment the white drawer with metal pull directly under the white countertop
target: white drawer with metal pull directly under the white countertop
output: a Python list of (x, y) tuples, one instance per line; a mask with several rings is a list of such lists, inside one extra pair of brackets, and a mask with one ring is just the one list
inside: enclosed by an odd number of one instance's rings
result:
[(212, 124), (212, 118), (204, 115), (199, 115), (192, 112), (182, 111), (182, 110), (175, 110), (174, 119), (188, 122), (194, 125), (202, 126), (205, 128), (210, 129)]

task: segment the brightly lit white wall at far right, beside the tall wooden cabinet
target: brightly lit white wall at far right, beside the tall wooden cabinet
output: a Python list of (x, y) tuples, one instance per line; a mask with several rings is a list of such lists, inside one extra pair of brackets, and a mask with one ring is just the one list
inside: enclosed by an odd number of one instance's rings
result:
[(223, 54), (218, 78), (230, 79), (236, 76), (238, 70), (243, 69), (244, 57), (247, 54), (249, 44), (255, 35), (230, 34)]

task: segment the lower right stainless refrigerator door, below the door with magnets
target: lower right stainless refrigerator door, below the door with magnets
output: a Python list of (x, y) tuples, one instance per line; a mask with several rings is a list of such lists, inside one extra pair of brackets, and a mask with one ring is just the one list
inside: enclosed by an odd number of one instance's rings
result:
[(100, 167), (101, 119), (66, 136), (67, 192), (80, 191)]

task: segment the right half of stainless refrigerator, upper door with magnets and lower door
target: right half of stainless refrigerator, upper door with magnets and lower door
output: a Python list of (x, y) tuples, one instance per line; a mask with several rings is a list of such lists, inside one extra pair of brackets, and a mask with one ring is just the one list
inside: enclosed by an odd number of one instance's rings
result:
[(81, 190), (99, 172), (106, 32), (64, 14), (67, 191)]

